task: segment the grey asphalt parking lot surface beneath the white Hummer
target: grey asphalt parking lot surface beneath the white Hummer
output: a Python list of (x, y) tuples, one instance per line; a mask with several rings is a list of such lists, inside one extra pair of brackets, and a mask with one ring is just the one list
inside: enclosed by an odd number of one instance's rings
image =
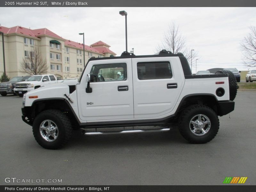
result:
[[(256, 92), (238, 92), (235, 111), (220, 117), (207, 144), (168, 132), (82, 135), (60, 150), (40, 147), (21, 120), (22, 98), (0, 96), (0, 184), (221, 185), (226, 177), (256, 184)], [(5, 178), (61, 179), (62, 183), (6, 183)]]

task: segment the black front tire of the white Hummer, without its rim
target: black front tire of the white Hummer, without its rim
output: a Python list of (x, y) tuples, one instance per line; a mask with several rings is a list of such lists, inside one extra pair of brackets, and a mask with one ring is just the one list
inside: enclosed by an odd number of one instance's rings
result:
[[(54, 141), (46, 141), (40, 134), (40, 124), (44, 120), (51, 120), (58, 127), (58, 136)], [(64, 112), (55, 109), (45, 110), (39, 113), (33, 122), (33, 134), (39, 145), (46, 149), (59, 149), (71, 139), (72, 126)]]

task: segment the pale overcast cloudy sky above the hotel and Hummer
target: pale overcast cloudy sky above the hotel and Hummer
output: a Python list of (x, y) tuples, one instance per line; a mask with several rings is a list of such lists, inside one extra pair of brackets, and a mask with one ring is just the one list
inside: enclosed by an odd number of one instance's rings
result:
[[(26, 28), (48, 28), (76, 42), (83, 42), (78, 33), (85, 33), (85, 44), (99, 40), (111, 45), (120, 56), (125, 51), (125, 10), (128, 25), (128, 51), (136, 55), (156, 53), (164, 31), (173, 21), (186, 37), (187, 46), (198, 52), (197, 71), (209, 68), (247, 70), (241, 60), (240, 42), (256, 25), (256, 8), (177, 8), (177, 7), (81, 7), (81, 8), (0, 8), (1, 25)], [(193, 73), (195, 68), (193, 68)]]

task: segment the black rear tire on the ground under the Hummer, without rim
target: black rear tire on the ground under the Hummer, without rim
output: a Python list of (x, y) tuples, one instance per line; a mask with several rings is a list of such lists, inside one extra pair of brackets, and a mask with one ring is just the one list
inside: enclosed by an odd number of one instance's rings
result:
[[(191, 119), (197, 115), (207, 116), (210, 120), (211, 126), (208, 132), (204, 135), (195, 135), (190, 130), (193, 129), (190, 124)], [(208, 125), (207, 125), (208, 126)], [(219, 131), (220, 122), (217, 114), (212, 108), (205, 105), (192, 105), (184, 109), (179, 118), (180, 134), (190, 143), (201, 144), (211, 141)]]

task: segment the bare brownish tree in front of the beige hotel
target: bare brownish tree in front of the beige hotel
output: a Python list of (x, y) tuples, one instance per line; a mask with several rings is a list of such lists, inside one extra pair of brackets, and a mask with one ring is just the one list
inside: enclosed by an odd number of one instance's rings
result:
[(47, 63), (39, 51), (38, 46), (34, 47), (25, 53), (25, 57), (20, 62), (21, 73), (29, 75), (41, 75), (47, 72)]

